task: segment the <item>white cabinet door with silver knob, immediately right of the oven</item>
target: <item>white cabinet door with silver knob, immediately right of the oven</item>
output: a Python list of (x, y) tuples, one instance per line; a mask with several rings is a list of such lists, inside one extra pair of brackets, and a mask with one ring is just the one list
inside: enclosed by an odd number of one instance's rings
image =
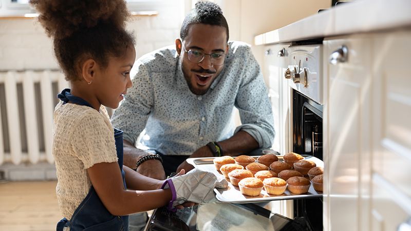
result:
[[(366, 36), (324, 41), (325, 62), (342, 46), (346, 61), (328, 65), (325, 103), (325, 230), (367, 230), (369, 204), (371, 44)], [(335, 55), (335, 53), (334, 53)], [(368, 195), (368, 197), (367, 197)]]

